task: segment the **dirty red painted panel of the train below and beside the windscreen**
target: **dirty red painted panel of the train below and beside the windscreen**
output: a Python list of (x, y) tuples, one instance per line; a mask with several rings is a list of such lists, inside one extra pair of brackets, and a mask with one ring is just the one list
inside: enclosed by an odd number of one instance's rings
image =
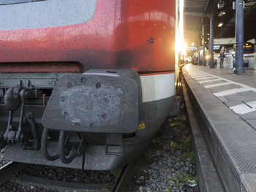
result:
[(75, 61), (82, 71), (174, 70), (175, 11), (173, 0), (98, 0), (87, 23), (0, 31), (0, 65)]

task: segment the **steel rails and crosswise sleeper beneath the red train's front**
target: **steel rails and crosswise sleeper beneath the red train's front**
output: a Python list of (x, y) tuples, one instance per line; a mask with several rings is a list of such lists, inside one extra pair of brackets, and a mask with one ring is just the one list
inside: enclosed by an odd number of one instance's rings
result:
[(121, 192), (124, 191), (129, 179), (132, 177), (134, 170), (134, 161), (124, 166), (121, 173), (116, 178), (116, 182), (110, 188), (105, 184), (93, 183), (75, 183), (59, 180), (48, 180), (41, 177), (31, 176), (28, 174), (18, 174), (16, 172), (25, 169), (29, 164), (22, 164), (17, 162), (9, 162), (0, 168), (0, 185), (10, 182), (18, 185), (26, 186), (27, 188), (44, 188), (50, 191), (76, 191), (76, 192)]

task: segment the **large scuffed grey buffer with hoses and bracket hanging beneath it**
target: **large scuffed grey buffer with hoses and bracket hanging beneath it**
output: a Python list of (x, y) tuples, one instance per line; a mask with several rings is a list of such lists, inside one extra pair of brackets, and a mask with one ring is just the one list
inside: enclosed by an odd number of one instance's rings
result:
[[(140, 77), (132, 69), (91, 69), (61, 76), (42, 116), (42, 154), (49, 161), (71, 163), (86, 153), (86, 139), (72, 137), (83, 132), (106, 134), (105, 153), (124, 155), (122, 134), (137, 130), (140, 103)], [(55, 155), (48, 153), (49, 128), (59, 131)]]

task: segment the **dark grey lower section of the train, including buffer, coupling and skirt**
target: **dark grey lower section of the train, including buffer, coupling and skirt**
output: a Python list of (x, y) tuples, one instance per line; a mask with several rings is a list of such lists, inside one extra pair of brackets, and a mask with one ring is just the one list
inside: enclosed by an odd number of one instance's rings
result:
[[(3, 73), (4, 157), (29, 164), (116, 169), (150, 142), (173, 96), (142, 102), (132, 69), (80, 73)], [(138, 126), (139, 125), (139, 126)]]

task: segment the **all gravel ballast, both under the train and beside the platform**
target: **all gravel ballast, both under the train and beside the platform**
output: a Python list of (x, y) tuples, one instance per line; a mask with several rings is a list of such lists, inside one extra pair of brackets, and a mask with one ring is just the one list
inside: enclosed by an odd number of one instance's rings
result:
[[(173, 118), (167, 118), (157, 135), (140, 155), (135, 164), (135, 174), (127, 186), (128, 191), (157, 192), (184, 191), (197, 192), (194, 154), (191, 136), (187, 125), (186, 109), (181, 97), (181, 112)], [(4, 149), (0, 150), (0, 165)], [(109, 189), (116, 181), (115, 172), (97, 172), (80, 169), (67, 169), (53, 166), (30, 165), (16, 176), (27, 174), (48, 180), (72, 183), (107, 184)], [(45, 191), (55, 190), (26, 186), (8, 182), (0, 187), (1, 191)]]

